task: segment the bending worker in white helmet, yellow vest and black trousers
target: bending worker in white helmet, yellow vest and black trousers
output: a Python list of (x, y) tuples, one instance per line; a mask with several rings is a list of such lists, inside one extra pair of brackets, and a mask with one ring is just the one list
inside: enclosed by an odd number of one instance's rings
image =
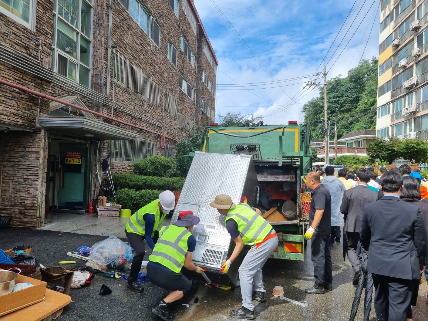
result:
[(170, 190), (165, 190), (159, 194), (159, 199), (147, 204), (135, 212), (126, 223), (126, 237), (131, 247), (135, 251), (132, 259), (131, 272), (129, 273), (127, 287), (135, 292), (143, 292), (143, 285), (138, 282), (138, 273), (141, 269), (141, 263), (146, 253), (144, 240), (153, 250), (158, 241), (159, 232), (157, 231), (163, 219), (169, 211), (175, 206), (175, 196)]

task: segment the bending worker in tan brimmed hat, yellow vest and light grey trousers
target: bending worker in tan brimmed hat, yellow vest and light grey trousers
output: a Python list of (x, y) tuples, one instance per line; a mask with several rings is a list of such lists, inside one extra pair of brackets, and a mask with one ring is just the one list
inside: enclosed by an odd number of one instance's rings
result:
[(222, 265), (223, 273), (227, 273), (244, 244), (251, 245), (251, 250), (239, 267), (242, 306), (232, 310), (230, 315), (233, 318), (253, 320), (255, 315), (251, 301), (266, 301), (262, 267), (278, 246), (278, 236), (272, 226), (260, 216), (262, 213), (258, 209), (247, 204), (235, 205), (229, 195), (217, 195), (211, 206), (217, 208), (220, 214), (226, 215), (226, 229), (235, 242), (232, 255)]

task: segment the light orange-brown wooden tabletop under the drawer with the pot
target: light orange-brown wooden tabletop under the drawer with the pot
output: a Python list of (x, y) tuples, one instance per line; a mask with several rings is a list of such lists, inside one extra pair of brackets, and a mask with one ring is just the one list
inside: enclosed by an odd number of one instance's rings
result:
[(71, 297), (46, 289), (46, 300), (8, 313), (0, 321), (41, 321), (71, 302)]

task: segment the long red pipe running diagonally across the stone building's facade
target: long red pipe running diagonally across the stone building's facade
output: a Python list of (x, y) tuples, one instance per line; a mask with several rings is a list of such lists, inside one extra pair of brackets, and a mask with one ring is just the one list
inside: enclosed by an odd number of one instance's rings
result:
[[(144, 127), (141, 127), (141, 126), (137, 126), (137, 125), (131, 124), (129, 122), (124, 122), (123, 120), (116, 119), (116, 118), (104, 115), (102, 113), (98, 113), (98, 112), (90, 110), (88, 108), (84, 108), (84, 107), (77, 106), (75, 104), (71, 104), (68, 101), (65, 101), (65, 100), (62, 100), (62, 99), (58, 99), (58, 98), (55, 98), (55, 97), (52, 97), (52, 96), (49, 96), (49, 95), (46, 95), (46, 94), (42, 94), (41, 92), (38, 92), (36, 90), (32, 90), (30, 88), (17, 85), (15, 83), (11, 83), (11, 82), (3, 80), (3, 79), (0, 79), (0, 84), (8, 86), (8, 87), (15, 88), (15, 89), (18, 89), (18, 90), (21, 90), (23, 92), (28, 92), (29, 94), (37, 96), (37, 97), (42, 97), (44, 99), (48, 99), (48, 100), (51, 100), (51, 101), (56, 101), (57, 103), (60, 103), (60, 104), (66, 105), (66, 106), (70, 106), (70, 107), (76, 108), (78, 110), (83, 110), (86, 113), (90, 113), (90, 114), (93, 114), (93, 115), (98, 116), (98, 117), (109, 119), (109, 120), (112, 120), (113, 122), (117, 122), (117, 123), (122, 124), (122, 125), (127, 125), (127, 126), (130, 126), (130, 127), (133, 127), (133, 128), (140, 129), (142, 131), (148, 131), (149, 133), (156, 134), (156, 135), (159, 135), (159, 136), (163, 136), (162, 134), (158, 133), (157, 131), (152, 131), (150, 129), (147, 129), (147, 128), (144, 128)], [(174, 140), (175, 142), (178, 142), (178, 140), (176, 140), (175, 138), (168, 137), (168, 136), (164, 136), (164, 137), (168, 138), (169, 140)]]

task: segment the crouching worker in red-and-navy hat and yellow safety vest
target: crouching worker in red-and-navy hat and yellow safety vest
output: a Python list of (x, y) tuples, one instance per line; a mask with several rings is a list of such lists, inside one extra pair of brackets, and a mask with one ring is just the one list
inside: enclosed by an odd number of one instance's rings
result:
[(181, 211), (177, 222), (160, 229), (158, 242), (149, 256), (147, 276), (150, 281), (171, 291), (152, 308), (152, 312), (164, 321), (174, 320), (174, 314), (168, 311), (168, 306), (181, 299), (192, 286), (192, 281), (181, 273), (181, 268), (184, 266), (197, 273), (204, 271), (192, 262), (196, 239), (191, 232), (193, 225), (198, 223), (199, 217), (193, 216), (192, 211)]

